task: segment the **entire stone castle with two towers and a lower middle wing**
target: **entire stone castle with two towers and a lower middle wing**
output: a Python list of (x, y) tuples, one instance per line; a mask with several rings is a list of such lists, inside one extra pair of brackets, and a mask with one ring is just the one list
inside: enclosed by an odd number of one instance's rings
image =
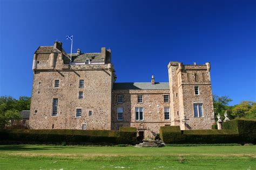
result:
[(211, 129), (210, 63), (170, 62), (169, 82), (115, 83), (111, 50), (67, 54), (62, 42), (39, 46), (33, 56), (31, 129), (119, 130), (136, 127), (153, 137), (160, 126)]

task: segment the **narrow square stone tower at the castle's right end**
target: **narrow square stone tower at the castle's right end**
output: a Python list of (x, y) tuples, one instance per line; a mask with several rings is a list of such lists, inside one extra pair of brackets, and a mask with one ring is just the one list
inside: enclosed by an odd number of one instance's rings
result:
[(170, 62), (170, 103), (174, 122), (181, 130), (211, 129), (214, 123), (210, 63), (183, 65)]

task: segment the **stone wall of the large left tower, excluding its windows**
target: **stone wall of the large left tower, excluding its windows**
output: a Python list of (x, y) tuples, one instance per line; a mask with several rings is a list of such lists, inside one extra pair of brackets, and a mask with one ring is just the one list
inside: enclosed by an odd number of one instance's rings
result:
[[(57, 69), (50, 69), (43, 62), (46, 54), (38, 54), (37, 60), (42, 61), (39, 62), (42, 65), (34, 70), (30, 128), (82, 129), (82, 124), (86, 124), (87, 130), (111, 129), (111, 65), (62, 69), (62, 55), (58, 54)], [(80, 79), (84, 80), (84, 88), (79, 88)], [(59, 80), (57, 88), (54, 87), (55, 80)], [(79, 91), (83, 91), (83, 99), (78, 99)], [(53, 98), (58, 98), (57, 116), (52, 116)], [(82, 109), (81, 117), (76, 117), (76, 109)]]

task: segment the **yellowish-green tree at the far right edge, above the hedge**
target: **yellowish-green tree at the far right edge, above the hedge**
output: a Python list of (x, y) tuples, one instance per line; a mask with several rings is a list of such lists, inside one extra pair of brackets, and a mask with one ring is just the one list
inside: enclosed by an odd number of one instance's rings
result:
[(256, 102), (242, 101), (240, 104), (234, 105), (232, 115), (238, 118), (256, 118)]

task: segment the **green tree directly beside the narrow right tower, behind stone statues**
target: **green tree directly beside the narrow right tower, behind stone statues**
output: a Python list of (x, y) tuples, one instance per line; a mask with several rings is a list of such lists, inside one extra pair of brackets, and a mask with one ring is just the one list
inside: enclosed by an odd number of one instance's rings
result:
[(227, 111), (227, 115), (229, 118), (233, 118), (232, 116), (232, 107), (228, 106), (228, 103), (232, 101), (228, 96), (217, 96), (213, 95), (213, 107), (214, 107), (214, 116), (217, 119), (217, 115), (220, 114), (221, 117), (224, 118), (224, 113)]

